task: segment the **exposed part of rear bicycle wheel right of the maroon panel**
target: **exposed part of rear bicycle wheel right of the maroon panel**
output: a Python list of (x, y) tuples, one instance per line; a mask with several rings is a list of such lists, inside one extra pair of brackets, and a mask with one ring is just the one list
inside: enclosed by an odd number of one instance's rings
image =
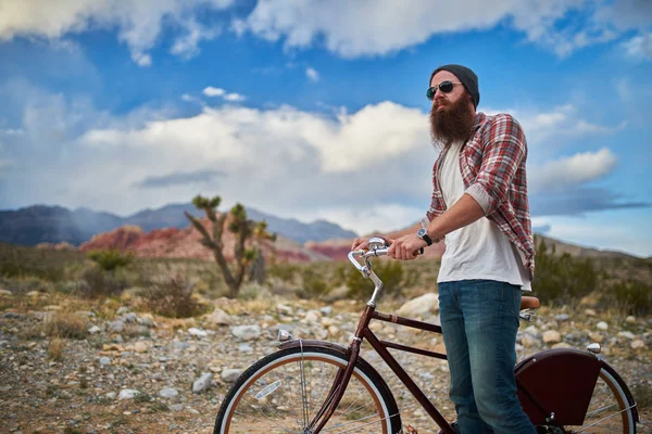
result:
[[(604, 414), (605, 412), (607, 414)], [(604, 363), (600, 369), (584, 424), (565, 426), (564, 430), (568, 433), (636, 434), (637, 420), (636, 403), (629, 388), (620, 375)]]

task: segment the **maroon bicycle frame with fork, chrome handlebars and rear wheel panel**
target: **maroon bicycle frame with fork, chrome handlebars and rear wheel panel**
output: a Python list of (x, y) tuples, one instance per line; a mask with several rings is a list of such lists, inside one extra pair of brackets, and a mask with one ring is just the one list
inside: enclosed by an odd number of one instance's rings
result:
[[(368, 253), (363, 252), (351, 252), (349, 259), (358, 267), (363, 276), (372, 279), (375, 284), (375, 291), (372, 298), (368, 301), (360, 321), (358, 323), (355, 333), (348, 348), (340, 345), (336, 345), (329, 342), (323, 341), (302, 341), (294, 340), (285, 342), (280, 345), (281, 348), (302, 346), (303, 343), (312, 346), (323, 346), (334, 348), (349, 356), (348, 365), (339, 369), (333, 386), (324, 400), (324, 404), (316, 412), (315, 417), (309, 424), (310, 433), (317, 434), (324, 429), (329, 418), (335, 413), (336, 408), (340, 404), (353, 370), (355, 368), (358, 358), (360, 357), (360, 349), (363, 340), (366, 340), (369, 345), (376, 350), (376, 353), (383, 358), (387, 366), (394, 372), (394, 374), (401, 380), (401, 382), (408, 387), (412, 395), (416, 398), (419, 405), (430, 416), (432, 421), (441, 429), (441, 433), (454, 434), (455, 430), (453, 426), (443, 418), (439, 410), (430, 403), (419, 386), (412, 380), (412, 378), (401, 367), (399, 361), (389, 353), (389, 348), (413, 353), (421, 356), (438, 358), (446, 360), (448, 359), (446, 354), (426, 350), (423, 348), (416, 348), (412, 346), (397, 344), (394, 342), (381, 341), (369, 329), (372, 320), (378, 320), (384, 322), (391, 322), (398, 326), (403, 326), (412, 329), (424, 330), (434, 333), (442, 333), (441, 327), (429, 322), (418, 321), (410, 318), (400, 317), (397, 315), (387, 315), (376, 311), (376, 301), (383, 289), (383, 282), (372, 271), (372, 266), (368, 261), (371, 256), (381, 256), (387, 252), (387, 248), (371, 248)], [(362, 256), (366, 261), (366, 266), (361, 266), (354, 256)], [(550, 369), (554, 366), (553, 369)], [(581, 424), (587, 411), (588, 401), (592, 393), (592, 387), (595, 384), (598, 372), (601, 367), (607, 366), (601, 358), (595, 355), (579, 352), (572, 348), (560, 348), (556, 350), (547, 350), (537, 355), (530, 356), (523, 360), (515, 367), (516, 375), (516, 387), (518, 390), (519, 399), (525, 405), (528, 416), (532, 422), (537, 424), (548, 424), (557, 426), (561, 429), (563, 424)], [(553, 378), (549, 375), (550, 372), (555, 372)], [(543, 379), (544, 381), (539, 381)], [(575, 388), (568, 388), (568, 384), (574, 384)], [(543, 387), (541, 387), (543, 385)], [(559, 395), (554, 390), (554, 385), (560, 385), (560, 388), (567, 390), (574, 401), (563, 407), (567, 407), (567, 410), (559, 411), (557, 417), (551, 409), (559, 408)], [(588, 393), (588, 395), (586, 395)], [(629, 394), (629, 391), (626, 392)], [(585, 399), (581, 399), (581, 397)], [(629, 396), (629, 395), (628, 395)], [(551, 401), (553, 404), (551, 404)], [(632, 401), (632, 399), (630, 400)], [(634, 420), (638, 421), (638, 412), (636, 411), (636, 404), (629, 408), (634, 408)], [(393, 434), (393, 433), (392, 433)]]

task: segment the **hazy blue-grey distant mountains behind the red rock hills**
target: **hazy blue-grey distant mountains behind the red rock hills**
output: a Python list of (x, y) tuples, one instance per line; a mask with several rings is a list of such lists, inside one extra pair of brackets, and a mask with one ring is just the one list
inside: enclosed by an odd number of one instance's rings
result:
[[(34, 205), (16, 210), (0, 210), (0, 242), (22, 245), (67, 242), (80, 245), (101, 232), (109, 232), (123, 226), (137, 226), (146, 232), (154, 229), (189, 226), (184, 216), (188, 212), (203, 217), (192, 204), (171, 204), (158, 209), (143, 209), (127, 217), (111, 213), (95, 212), (88, 208), (71, 210), (62, 206)], [(272, 232), (300, 244), (306, 241), (351, 239), (356, 234), (338, 225), (316, 220), (304, 224), (296, 219), (275, 217), (253, 208), (247, 215), (254, 220), (267, 221)]]

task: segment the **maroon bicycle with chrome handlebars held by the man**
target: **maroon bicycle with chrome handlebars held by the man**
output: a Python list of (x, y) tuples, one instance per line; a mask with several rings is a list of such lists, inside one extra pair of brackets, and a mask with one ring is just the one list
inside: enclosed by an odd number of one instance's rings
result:
[[(372, 320), (434, 333), (441, 327), (376, 311), (383, 282), (369, 259), (387, 255), (381, 238), (349, 260), (375, 283), (348, 348), (325, 341), (296, 340), (280, 331), (279, 349), (247, 369), (223, 400), (214, 434), (227, 433), (368, 433), (401, 434), (397, 401), (380, 374), (360, 357), (366, 340), (441, 429), (455, 433), (388, 348), (446, 359), (430, 352), (379, 340)], [(364, 265), (359, 260), (364, 259)], [(521, 318), (531, 320), (536, 297), (523, 297)], [(518, 398), (538, 433), (636, 433), (637, 404), (618, 373), (601, 357), (600, 345), (587, 350), (547, 349), (514, 368)]]

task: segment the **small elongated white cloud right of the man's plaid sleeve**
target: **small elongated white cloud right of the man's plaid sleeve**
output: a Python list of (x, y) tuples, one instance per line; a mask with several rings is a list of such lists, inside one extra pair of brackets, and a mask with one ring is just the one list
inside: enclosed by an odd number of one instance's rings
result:
[(604, 148), (534, 166), (528, 174), (529, 190), (537, 193), (584, 184), (609, 175), (616, 163), (616, 156)]

